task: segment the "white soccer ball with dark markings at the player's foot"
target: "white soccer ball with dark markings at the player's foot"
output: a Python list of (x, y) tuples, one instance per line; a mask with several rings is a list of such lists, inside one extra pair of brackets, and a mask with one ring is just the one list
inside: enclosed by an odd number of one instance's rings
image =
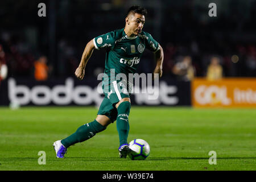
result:
[(150, 154), (150, 146), (143, 139), (134, 139), (129, 143), (131, 160), (144, 160)]

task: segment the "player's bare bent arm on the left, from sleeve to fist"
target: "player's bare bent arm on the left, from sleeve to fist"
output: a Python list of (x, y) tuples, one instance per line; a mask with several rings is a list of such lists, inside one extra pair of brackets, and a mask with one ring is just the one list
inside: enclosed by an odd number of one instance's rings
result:
[(88, 42), (86, 44), (86, 47), (84, 48), (84, 52), (82, 53), (82, 58), (81, 58), (79, 67), (75, 71), (75, 75), (77, 78), (79, 78), (79, 80), (82, 80), (84, 78), (85, 66), (88, 60), (90, 59), (90, 56), (92, 55), (94, 48), (95, 47), (93, 44), (93, 40), (90, 40), (90, 42)]

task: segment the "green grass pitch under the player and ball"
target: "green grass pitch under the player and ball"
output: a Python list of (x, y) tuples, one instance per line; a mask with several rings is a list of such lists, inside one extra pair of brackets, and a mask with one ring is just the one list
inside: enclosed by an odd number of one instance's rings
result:
[[(255, 109), (132, 107), (128, 140), (151, 147), (146, 160), (118, 158), (115, 123), (57, 159), (52, 143), (93, 121), (94, 107), (0, 107), (0, 170), (255, 170)], [(39, 165), (39, 151), (46, 165)], [(210, 165), (209, 151), (217, 164)]]

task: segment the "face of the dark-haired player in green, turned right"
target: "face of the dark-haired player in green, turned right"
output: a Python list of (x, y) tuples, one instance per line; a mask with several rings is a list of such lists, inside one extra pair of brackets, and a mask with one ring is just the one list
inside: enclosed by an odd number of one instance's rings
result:
[(130, 32), (134, 35), (138, 35), (141, 33), (142, 28), (145, 23), (145, 16), (142, 14), (135, 13), (130, 17), (129, 21), (129, 29)]

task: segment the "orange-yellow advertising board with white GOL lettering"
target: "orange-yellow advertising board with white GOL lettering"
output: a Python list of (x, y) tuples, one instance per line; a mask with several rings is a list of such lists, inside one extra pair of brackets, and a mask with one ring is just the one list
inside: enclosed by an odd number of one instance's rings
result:
[(256, 107), (256, 78), (195, 78), (191, 84), (193, 107)]

